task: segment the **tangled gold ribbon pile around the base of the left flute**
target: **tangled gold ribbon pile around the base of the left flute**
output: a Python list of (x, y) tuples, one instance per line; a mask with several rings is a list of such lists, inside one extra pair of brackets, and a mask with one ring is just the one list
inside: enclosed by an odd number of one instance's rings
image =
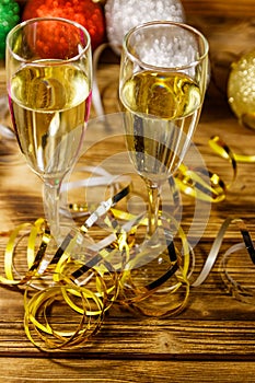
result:
[[(5, 277), (0, 277), (0, 283), (25, 286), (25, 333), (30, 340), (40, 349), (51, 351), (82, 347), (84, 339), (94, 335), (102, 325), (104, 313), (114, 303), (119, 286), (117, 272), (105, 259), (109, 252), (105, 248), (98, 252), (97, 246), (95, 249), (89, 248), (90, 258), (83, 255), (76, 259), (72, 249), (80, 241), (81, 233), (86, 235), (89, 229), (128, 193), (129, 185), (100, 204), (90, 213), (79, 232), (70, 230), (53, 256), (47, 254), (47, 246), (53, 239), (43, 218), (33, 224), (21, 224), (12, 231), (4, 253)], [(14, 259), (19, 241), (25, 236), (28, 236), (27, 271), (21, 277), (15, 270)], [(36, 251), (38, 237), (40, 244)], [(108, 243), (114, 241), (118, 242), (118, 236), (112, 236)], [(88, 259), (91, 260), (88, 262)], [(28, 299), (28, 292), (30, 294), (33, 292), (31, 299)], [(78, 299), (82, 304), (77, 304)], [(54, 329), (50, 325), (48, 312), (59, 302), (65, 303), (71, 311), (80, 315), (77, 329), (65, 333)], [(86, 322), (88, 325), (84, 327)]]

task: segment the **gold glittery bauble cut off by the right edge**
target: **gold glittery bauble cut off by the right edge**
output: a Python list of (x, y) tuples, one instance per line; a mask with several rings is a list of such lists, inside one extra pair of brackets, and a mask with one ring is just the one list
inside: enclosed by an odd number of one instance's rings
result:
[(255, 129), (255, 50), (232, 63), (228, 98), (240, 123)]

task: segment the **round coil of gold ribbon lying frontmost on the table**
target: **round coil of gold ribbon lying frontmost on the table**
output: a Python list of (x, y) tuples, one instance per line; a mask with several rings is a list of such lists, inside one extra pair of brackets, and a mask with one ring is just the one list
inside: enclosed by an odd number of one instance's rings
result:
[[(103, 323), (104, 307), (96, 293), (86, 287), (77, 286), (66, 277), (61, 279), (61, 285), (36, 291), (31, 299), (28, 299), (28, 288), (24, 294), (25, 334), (36, 347), (45, 351), (81, 348), (97, 333)], [(63, 307), (60, 313), (54, 314), (51, 309), (53, 305), (56, 306), (56, 302)], [(71, 311), (69, 312), (68, 309)], [(98, 314), (91, 315), (92, 311)], [(65, 316), (67, 312), (70, 315), (69, 324), (72, 324), (70, 328), (67, 328), (69, 327)], [(73, 313), (78, 314), (78, 318)], [(58, 322), (62, 315), (65, 322), (59, 327), (63, 327), (63, 329), (54, 328), (51, 323), (55, 315), (57, 315)]]

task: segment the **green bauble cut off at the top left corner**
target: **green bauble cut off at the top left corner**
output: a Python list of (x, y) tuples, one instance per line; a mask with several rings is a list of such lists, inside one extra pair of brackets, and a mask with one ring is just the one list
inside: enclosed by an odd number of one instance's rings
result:
[(5, 56), (5, 39), (9, 31), (20, 21), (20, 7), (14, 0), (0, 2), (0, 59)]

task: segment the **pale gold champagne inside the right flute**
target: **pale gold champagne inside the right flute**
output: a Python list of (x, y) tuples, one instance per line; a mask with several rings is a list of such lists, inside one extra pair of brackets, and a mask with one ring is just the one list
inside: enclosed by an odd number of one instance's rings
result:
[(159, 183), (187, 151), (201, 109), (199, 86), (184, 73), (136, 73), (120, 88), (130, 158), (141, 176)]

